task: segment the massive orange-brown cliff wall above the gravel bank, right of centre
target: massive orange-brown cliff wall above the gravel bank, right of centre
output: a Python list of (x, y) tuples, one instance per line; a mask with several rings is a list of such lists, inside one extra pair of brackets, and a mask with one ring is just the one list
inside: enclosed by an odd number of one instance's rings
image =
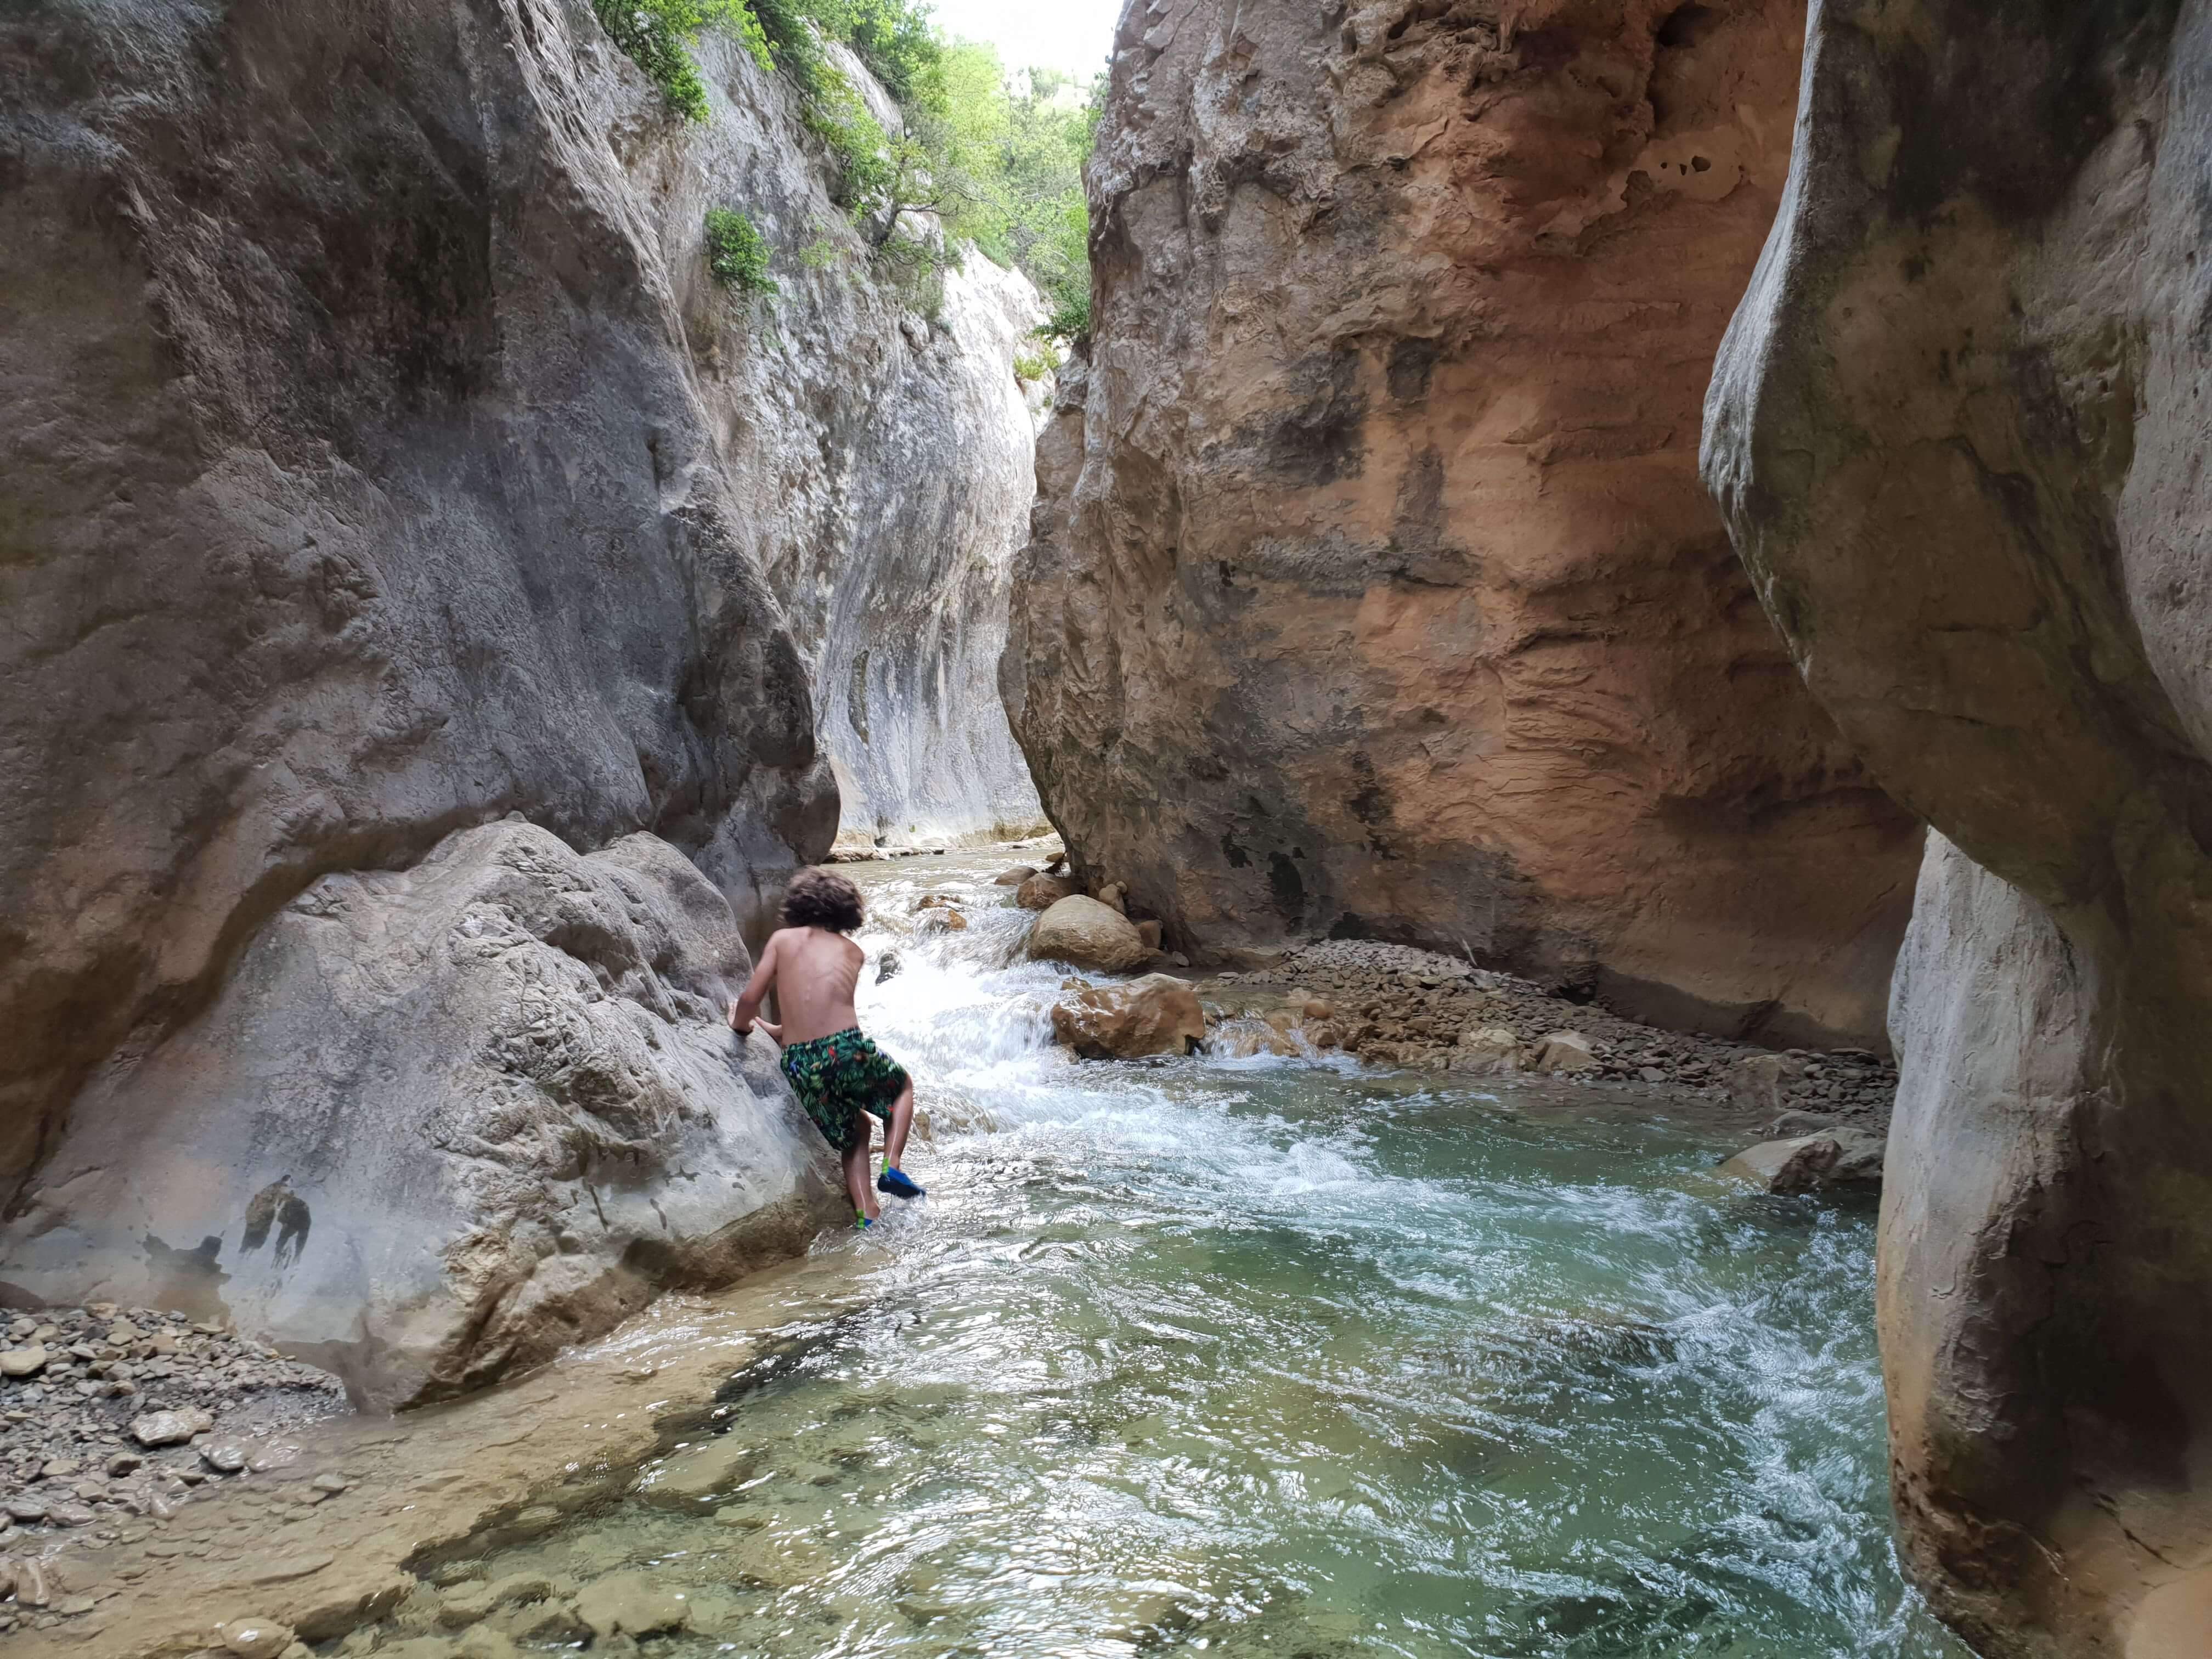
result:
[(1697, 482), (1783, 0), (1139, 0), (1002, 690), (1194, 956), (1356, 933), (1880, 1042), (1918, 832)]

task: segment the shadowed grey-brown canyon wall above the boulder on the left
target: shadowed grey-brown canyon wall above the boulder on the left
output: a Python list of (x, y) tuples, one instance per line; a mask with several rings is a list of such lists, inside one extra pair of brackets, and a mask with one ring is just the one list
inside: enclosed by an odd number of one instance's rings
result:
[(509, 810), (655, 825), (732, 894), (818, 856), (805, 670), (611, 142), (648, 93), (588, 11), (4, 29), (0, 1183), (327, 869)]

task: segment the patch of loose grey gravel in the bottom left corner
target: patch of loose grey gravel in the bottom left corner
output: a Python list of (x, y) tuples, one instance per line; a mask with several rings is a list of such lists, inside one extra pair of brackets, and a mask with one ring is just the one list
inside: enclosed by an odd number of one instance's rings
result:
[[(150, 1307), (18, 1314), (0, 1347), (0, 1632), (91, 1613), (71, 1544), (155, 1535), (197, 1486), (288, 1458), (272, 1433), (345, 1409), (338, 1378)], [(345, 1491), (323, 1475), (303, 1502)]]

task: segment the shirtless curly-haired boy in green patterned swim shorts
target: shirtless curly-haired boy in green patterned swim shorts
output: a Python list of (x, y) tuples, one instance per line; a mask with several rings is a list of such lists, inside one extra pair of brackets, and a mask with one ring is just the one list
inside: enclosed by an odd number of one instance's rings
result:
[[(854, 1225), (876, 1223), (876, 1194), (867, 1190), (867, 1152), (883, 1119), (885, 1159), (876, 1186), (894, 1199), (918, 1199), (922, 1188), (898, 1168), (914, 1126), (914, 1082), (876, 1044), (860, 1035), (852, 989), (860, 982), (860, 947), (845, 938), (860, 925), (860, 889), (827, 869), (801, 869), (783, 896), (783, 929), (768, 940), (745, 993), (730, 1004), (730, 1029), (743, 1037), (754, 1024), (783, 1044), (783, 1075), (814, 1128), (845, 1161)], [(776, 993), (783, 1024), (761, 1020), (761, 1002)]]

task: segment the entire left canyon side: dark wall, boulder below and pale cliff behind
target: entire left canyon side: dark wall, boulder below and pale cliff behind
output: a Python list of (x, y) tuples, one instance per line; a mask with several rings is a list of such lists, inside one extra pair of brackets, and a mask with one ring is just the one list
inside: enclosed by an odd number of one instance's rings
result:
[[(582, 0), (0, 20), (0, 1285), (190, 1279), (405, 1402), (836, 1212), (712, 1002), (832, 757), (1020, 810), (931, 699), (1029, 301), (885, 292), (703, 64), (697, 126)], [(710, 206), (827, 254), (739, 301)], [(869, 644), (880, 765), (810, 688)]]

